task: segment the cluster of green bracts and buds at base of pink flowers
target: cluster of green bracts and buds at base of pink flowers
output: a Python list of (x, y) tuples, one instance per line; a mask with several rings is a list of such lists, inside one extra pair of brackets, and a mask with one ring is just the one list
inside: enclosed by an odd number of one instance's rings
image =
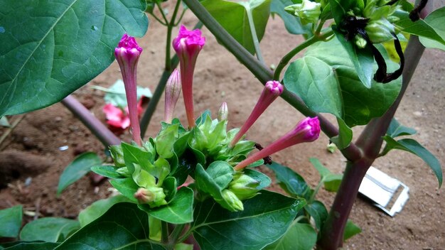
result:
[(162, 123), (159, 134), (143, 146), (111, 146), (114, 166), (92, 170), (114, 179), (114, 188), (144, 210), (171, 206), (178, 186), (189, 175), (196, 180), (194, 192), (200, 193), (201, 200), (213, 197), (227, 210), (243, 210), (241, 200), (257, 195), (270, 179), (254, 170), (235, 173), (233, 167), (254, 149), (253, 141), (239, 141), (230, 148), (237, 131), (227, 131), (227, 120), (211, 119), (210, 112), (204, 112), (189, 131), (173, 119), (171, 124)]

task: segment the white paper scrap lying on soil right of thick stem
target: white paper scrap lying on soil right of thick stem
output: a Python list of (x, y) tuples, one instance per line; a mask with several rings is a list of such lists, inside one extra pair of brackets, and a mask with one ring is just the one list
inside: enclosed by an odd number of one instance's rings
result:
[(409, 198), (407, 185), (374, 167), (366, 172), (358, 192), (375, 202), (376, 207), (390, 216), (402, 211)]

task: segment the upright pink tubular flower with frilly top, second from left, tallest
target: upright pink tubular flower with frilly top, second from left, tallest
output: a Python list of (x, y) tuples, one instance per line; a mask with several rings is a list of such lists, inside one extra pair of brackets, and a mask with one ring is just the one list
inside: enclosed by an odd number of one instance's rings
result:
[(178, 36), (173, 39), (173, 49), (178, 54), (181, 67), (181, 80), (184, 104), (186, 105), (186, 114), (188, 126), (195, 126), (193, 118), (193, 71), (195, 70), (196, 58), (205, 44), (205, 38), (201, 36), (201, 31), (195, 29), (188, 31), (185, 26), (179, 28)]

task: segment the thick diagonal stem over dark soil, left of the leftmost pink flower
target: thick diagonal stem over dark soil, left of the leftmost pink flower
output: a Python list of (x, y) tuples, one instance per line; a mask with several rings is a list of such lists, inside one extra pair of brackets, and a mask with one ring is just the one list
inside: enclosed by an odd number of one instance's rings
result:
[(91, 112), (85, 108), (77, 99), (73, 96), (68, 95), (62, 100), (62, 104), (65, 105), (70, 112), (82, 121), (82, 123), (87, 126), (88, 129), (94, 134), (104, 146), (118, 145), (121, 140), (115, 136), (112, 131), (102, 124)]

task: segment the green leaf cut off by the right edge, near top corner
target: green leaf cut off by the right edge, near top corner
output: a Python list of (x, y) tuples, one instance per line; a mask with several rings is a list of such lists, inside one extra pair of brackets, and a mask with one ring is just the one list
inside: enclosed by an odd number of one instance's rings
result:
[[(436, 9), (435, 11), (429, 13), (427, 18), (424, 19), (424, 21), (434, 28), (434, 31), (443, 39), (445, 40), (445, 7), (442, 7), (441, 9)], [(439, 48), (441, 50), (445, 50), (445, 45), (443, 43), (439, 43), (436, 40), (431, 40), (428, 38), (425, 38), (421, 36), (420, 42), (427, 48)]]

